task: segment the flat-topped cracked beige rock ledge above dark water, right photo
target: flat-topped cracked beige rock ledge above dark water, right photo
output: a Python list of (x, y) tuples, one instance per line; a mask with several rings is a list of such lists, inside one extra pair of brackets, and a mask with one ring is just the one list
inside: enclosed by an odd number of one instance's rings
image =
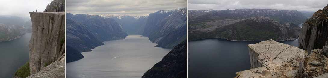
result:
[(238, 78), (299, 78), (300, 61), (307, 55), (302, 49), (272, 39), (249, 44), (248, 49), (251, 70), (236, 72)]

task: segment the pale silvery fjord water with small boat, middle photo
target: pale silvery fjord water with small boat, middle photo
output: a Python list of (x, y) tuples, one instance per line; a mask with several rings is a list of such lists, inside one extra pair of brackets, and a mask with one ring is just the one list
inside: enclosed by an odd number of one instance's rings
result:
[[(154, 47), (156, 43), (141, 35), (103, 42), (105, 45), (81, 53), (84, 58), (67, 63), (68, 78), (141, 78), (171, 49)], [(114, 58), (115, 57), (115, 58)]]

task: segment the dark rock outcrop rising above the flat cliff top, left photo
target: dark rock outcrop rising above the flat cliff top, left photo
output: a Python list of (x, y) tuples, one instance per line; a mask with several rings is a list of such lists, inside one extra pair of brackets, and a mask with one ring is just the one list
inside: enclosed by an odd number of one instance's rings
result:
[(43, 12), (62, 12), (65, 11), (65, 0), (53, 0)]

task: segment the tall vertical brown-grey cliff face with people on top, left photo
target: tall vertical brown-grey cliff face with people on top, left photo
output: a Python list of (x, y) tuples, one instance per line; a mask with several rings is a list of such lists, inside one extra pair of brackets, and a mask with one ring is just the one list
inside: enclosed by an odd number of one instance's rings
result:
[(30, 12), (32, 36), (29, 42), (31, 74), (64, 54), (65, 12)]

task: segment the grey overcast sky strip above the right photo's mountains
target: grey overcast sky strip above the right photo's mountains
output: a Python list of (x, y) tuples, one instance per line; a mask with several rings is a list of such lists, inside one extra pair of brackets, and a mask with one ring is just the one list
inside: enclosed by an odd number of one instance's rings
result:
[(328, 0), (188, 0), (189, 10), (224, 9), (282, 9), (318, 11)]

